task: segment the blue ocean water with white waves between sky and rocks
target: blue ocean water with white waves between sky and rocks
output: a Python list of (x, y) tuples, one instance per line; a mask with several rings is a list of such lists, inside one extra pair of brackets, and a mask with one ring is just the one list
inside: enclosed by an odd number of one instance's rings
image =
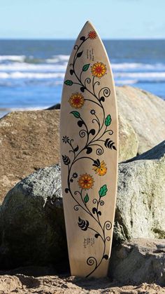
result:
[[(165, 40), (106, 40), (117, 86), (143, 88), (165, 99)], [(0, 40), (0, 115), (61, 101), (71, 40)]]

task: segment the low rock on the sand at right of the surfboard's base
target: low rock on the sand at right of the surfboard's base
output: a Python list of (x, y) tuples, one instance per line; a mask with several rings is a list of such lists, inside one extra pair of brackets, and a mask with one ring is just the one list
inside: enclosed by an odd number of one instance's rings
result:
[(132, 239), (113, 248), (110, 276), (129, 285), (154, 282), (165, 286), (165, 240)]

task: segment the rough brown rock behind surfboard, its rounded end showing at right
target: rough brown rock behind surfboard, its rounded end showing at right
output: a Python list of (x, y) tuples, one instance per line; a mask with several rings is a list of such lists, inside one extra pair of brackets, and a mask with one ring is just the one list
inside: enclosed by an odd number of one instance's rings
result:
[[(0, 203), (29, 173), (59, 162), (59, 114), (59, 110), (11, 112), (0, 119)], [(136, 156), (138, 142), (122, 116), (119, 127), (119, 160), (124, 161)]]

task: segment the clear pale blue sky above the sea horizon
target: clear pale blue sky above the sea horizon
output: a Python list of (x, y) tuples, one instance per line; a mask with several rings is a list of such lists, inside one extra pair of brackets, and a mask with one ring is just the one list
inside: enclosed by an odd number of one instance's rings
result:
[(1, 39), (76, 39), (87, 20), (102, 39), (165, 39), (165, 0), (0, 0)]

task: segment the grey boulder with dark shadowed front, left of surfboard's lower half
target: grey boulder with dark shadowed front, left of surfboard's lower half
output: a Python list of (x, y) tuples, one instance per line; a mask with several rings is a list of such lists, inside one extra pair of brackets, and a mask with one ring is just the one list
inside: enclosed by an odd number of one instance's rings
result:
[(1, 206), (0, 267), (49, 265), (66, 257), (59, 165), (29, 175)]

